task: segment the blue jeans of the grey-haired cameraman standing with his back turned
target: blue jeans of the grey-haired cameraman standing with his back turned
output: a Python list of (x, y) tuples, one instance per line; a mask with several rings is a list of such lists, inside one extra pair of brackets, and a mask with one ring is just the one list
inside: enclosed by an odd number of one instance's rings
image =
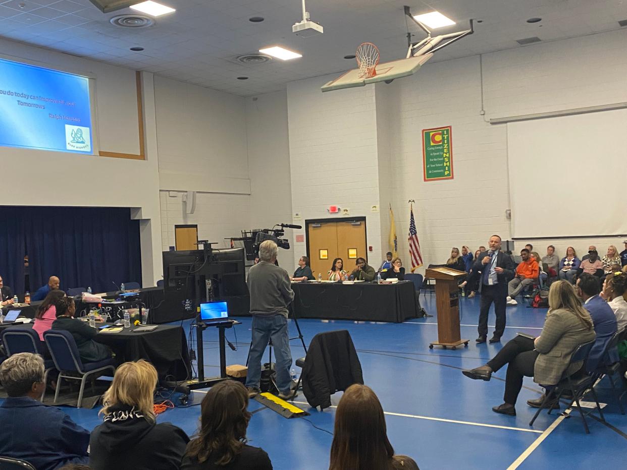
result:
[(277, 370), (277, 387), (280, 392), (290, 393), (292, 378), (292, 352), (290, 352), (290, 335), (287, 330), (287, 318), (283, 315), (253, 315), (251, 326), (252, 339), (248, 356), (248, 374), (246, 387), (259, 388), (261, 380), (261, 358), (266, 350), (268, 340), (272, 340), (275, 348), (275, 366)]

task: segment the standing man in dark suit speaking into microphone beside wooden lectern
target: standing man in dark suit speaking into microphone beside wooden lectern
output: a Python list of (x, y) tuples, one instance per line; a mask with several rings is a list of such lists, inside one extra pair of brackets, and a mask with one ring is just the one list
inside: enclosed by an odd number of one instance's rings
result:
[(481, 303), (477, 343), (485, 343), (488, 336), (488, 312), (492, 303), (494, 303), (494, 313), (497, 316), (497, 322), (490, 343), (500, 342), (505, 331), (507, 283), (514, 278), (514, 262), (508, 254), (503, 253), (500, 249), (500, 236), (491, 236), (490, 241), (488, 241), (488, 250), (479, 254), (475, 264), (473, 264), (473, 271), (481, 271), (479, 283)]

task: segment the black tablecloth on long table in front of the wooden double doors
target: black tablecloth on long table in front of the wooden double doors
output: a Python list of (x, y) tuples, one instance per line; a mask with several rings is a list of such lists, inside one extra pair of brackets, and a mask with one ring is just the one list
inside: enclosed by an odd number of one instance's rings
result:
[(416, 290), (411, 281), (388, 285), (293, 283), (292, 289), (298, 318), (399, 323), (418, 315)]

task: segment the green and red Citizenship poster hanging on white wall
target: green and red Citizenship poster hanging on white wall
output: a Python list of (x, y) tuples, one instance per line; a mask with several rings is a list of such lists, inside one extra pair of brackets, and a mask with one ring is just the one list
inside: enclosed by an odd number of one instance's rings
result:
[(451, 126), (423, 129), (424, 180), (453, 179)]

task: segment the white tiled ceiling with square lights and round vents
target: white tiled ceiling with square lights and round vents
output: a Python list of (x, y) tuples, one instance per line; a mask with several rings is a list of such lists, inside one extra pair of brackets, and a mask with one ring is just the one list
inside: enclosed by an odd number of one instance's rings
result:
[[(140, 0), (138, 0), (139, 2)], [(379, 46), (381, 60), (404, 57), (406, 21), (413, 14), (441, 11), (458, 22), (437, 33), (466, 29), (469, 18), (482, 19), (475, 34), (438, 52), (435, 61), (522, 47), (516, 39), (542, 41), (619, 29), (627, 19), (627, 0), (307, 0), (324, 34), (300, 38), (292, 24), (300, 21), (300, 0), (159, 0), (175, 13), (155, 19), (150, 28), (113, 26), (89, 0), (0, 0), (0, 36), (73, 55), (146, 70), (157, 75), (241, 96), (282, 90), (288, 81), (354, 68), (345, 60), (365, 41)], [(251, 23), (263, 16), (263, 23)], [(542, 18), (540, 23), (525, 20)], [(414, 40), (423, 33), (410, 24)], [(233, 58), (264, 46), (282, 45), (302, 53), (300, 59), (240, 65)], [(130, 51), (134, 46), (141, 52)], [(248, 76), (248, 80), (237, 80)]]

